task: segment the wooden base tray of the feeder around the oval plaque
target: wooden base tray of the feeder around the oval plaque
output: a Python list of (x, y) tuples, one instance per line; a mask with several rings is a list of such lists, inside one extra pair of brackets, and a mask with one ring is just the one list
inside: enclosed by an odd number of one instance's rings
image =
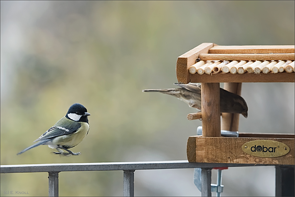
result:
[[(243, 136), (246, 133), (240, 133)], [(249, 134), (249, 133), (247, 133)], [(257, 135), (257, 136), (256, 136)], [(247, 136), (247, 135), (246, 135)], [(274, 134), (251, 133), (251, 137), (202, 137), (190, 136), (187, 140), (187, 160), (198, 163), (257, 163), (274, 165), (295, 164), (294, 134), (281, 135), (282, 138), (273, 138)], [(284, 138), (288, 137), (289, 138)], [(289, 146), (290, 151), (280, 157), (257, 157), (242, 150), (244, 143), (254, 140), (279, 141)]]

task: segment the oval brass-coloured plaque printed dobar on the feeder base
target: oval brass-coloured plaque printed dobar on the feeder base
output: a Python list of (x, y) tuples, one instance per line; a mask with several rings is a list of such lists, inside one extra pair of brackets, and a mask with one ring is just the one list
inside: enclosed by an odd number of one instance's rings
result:
[(286, 144), (273, 140), (253, 140), (244, 143), (242, 150), (256, 157), (280, 157), (290, 151)]

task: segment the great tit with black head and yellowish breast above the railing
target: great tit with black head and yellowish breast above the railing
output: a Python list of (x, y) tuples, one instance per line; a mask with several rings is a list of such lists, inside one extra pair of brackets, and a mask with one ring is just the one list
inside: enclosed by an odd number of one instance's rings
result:
[[(89, 115), (90, 114), (83, 105), (79, 103), (73, 104), (62, 119), (57, 121), (53, 127), (48, 129), (42, 136), (34, 141), (37, 142), (36, 144), (25, 148), (18, 154), (22, 154), (25, 151), (40, 145), (48, 145), (52, 149), (57, 149), (58, 152), (53, 152), (54, 154), (81, 154), (81, 152), (73, 153), (68, 149), (77, 146), (88, 134), (89, 123), (87, 117)], [(64, 150), (68, 153), (64, 153)]]

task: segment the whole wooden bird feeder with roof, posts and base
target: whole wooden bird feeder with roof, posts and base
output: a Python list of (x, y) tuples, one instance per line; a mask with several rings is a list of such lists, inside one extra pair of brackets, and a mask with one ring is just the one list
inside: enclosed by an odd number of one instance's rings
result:
[(201, 114), (189, 114), (188, 119), (202, 119), (202, 135), (188, 138), (189, 162), (295, 164), (294, 134), (240, 133), (239, 137), (221, 137), (221, 130), (238, 131), (239, 114), (222, 113), (220, 120), (219, 89), (219, 83), (224, 83), (225, 90), (240, 95), (242, 82), (294, 83), (294, 52), (294, 45), (202, 43), (178, 57), (178, 83), (201, 83)]

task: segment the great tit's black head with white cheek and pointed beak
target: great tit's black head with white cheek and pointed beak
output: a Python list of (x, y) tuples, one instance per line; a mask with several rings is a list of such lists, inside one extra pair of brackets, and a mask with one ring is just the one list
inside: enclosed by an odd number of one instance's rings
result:
[(75, 103), (68, 109), (66, 117), (73, 121), (88, 123), (87, 116), (89, 115), (90, 114), (87, 112), (87, 109), (83, 105)]

